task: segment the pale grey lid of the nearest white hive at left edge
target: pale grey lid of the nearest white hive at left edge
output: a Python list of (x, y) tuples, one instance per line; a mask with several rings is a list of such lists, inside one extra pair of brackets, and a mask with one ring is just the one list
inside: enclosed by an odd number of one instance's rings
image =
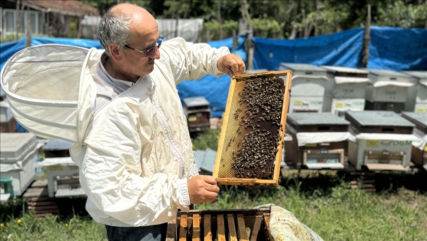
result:
[(0, 159), (19, 161), (37, 144), (32, 133), (1, 133)]

